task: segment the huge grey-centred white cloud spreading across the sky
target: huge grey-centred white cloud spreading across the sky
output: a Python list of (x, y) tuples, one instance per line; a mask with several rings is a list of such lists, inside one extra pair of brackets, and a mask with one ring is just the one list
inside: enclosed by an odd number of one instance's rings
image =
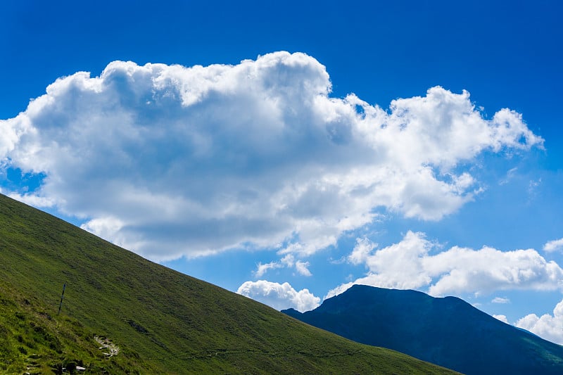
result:
[(378, 210), (439, 220), (481, 189), (477, 155), (543, 142), (511, 110), (484, 118), (467, 91), (434, 87), (388, 110), (330, 91), (303, 53), (77, 72), (0, 121), (1, 168), (46, 176), (6, 193), (155, 260), (236, 247), (304, 256)]

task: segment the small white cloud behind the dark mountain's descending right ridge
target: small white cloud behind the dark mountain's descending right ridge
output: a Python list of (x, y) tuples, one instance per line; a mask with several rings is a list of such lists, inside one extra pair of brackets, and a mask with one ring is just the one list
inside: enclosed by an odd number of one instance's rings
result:
[(563, 345), (563, 300), (553, 309), (553, 315), (529, 314), (516, 322), (516, 326), (527, 329), (545, 340)]

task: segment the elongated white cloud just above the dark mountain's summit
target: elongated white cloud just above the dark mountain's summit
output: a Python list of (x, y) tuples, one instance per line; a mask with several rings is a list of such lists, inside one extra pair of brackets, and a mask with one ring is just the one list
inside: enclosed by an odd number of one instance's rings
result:
[[(370, 248), (368, 240), (358, 241)], [(360, 251), (350, 260), (363, 260), (367, 276), (329, 291), (327, 298), (346, 291), (353, 284), (383, 288), (422, 289), (431, 295), (491, 293), (499, 290), (563, 290), (563, 269), (548, 262), (536, 250), (479, 250), (454, 246), (432, 255), (439, 245), (420, 232), (408, 231), (403, 240), (386, 248)], [(504, 299), (496, 299), (499, 303)]]

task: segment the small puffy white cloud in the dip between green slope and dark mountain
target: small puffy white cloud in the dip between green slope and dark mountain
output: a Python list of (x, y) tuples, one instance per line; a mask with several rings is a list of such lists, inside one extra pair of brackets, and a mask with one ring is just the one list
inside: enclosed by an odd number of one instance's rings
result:
[(293, 307), (305, 312), (315, 309), (320, 303), (320, 298), (315, 297), (308, 289), (296, 291), (289, 283), (278, 284), (266, 280), (246, 281), (236, 293), (258, 300), (276, 310)]

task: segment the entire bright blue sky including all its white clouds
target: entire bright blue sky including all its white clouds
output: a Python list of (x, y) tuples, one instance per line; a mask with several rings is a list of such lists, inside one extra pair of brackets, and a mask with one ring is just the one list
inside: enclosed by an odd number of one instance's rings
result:
[(0, 189), (276, 308), (416, 288), (563, 343), (561, 11), (4, 1)]

